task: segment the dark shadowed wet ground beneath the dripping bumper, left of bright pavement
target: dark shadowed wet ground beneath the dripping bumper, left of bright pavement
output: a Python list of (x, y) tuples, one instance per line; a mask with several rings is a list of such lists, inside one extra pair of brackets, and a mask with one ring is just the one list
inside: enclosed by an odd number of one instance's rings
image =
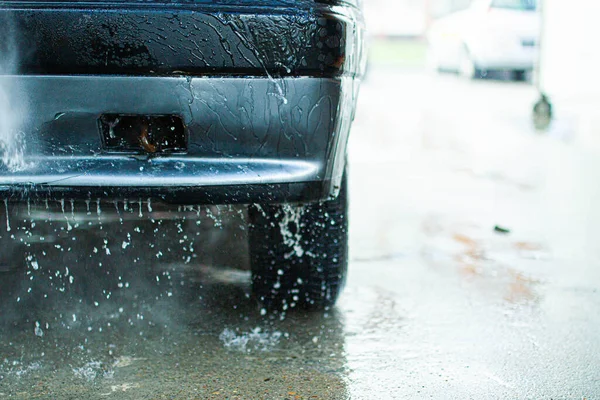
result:
[(245, 253), (239, 209), (173, 210), (170, 219), (155, 210), (120, 218), (76, 209), (69, 225), (45, 222), (35, 205), (12, 213), (11, 231), (32, 245), (20, 278), (3, 282), (0, 393), (345, 397), (337, 311), (265, 314), (244, 263), (219, 267)]

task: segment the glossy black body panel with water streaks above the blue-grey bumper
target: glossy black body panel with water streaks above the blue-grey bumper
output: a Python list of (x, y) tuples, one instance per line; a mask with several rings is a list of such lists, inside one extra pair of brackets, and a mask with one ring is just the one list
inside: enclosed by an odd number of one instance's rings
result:
[(306, 0), (0, 5), (26, 49), (19, 73), (53, 75), (356, 75), (353, 11)]

